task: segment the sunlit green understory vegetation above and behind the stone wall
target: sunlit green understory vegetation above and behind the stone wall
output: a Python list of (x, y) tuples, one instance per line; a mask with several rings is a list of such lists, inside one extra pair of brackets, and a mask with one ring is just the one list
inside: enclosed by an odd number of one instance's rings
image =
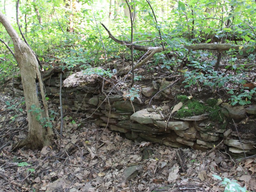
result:
[[(2, 2), (2, 11), (15, 18), (9, 10), (14, 4)], [(132, 16), (132, 34), (131, 20)], [(44, 70), (86, 70), (103, 67), (99, 75), (112, 76), (111, 60), (131, 61), (131, 50), (108, 38), (104, 23), (119, 40), (150, 47), (164, 46), (164, 51), (143, 67), (154, 72), (156, 67), (169, 74), (183, 76), (186, 89), (196, 87), (223, 92), (232, 105), (251, 103), (255, 94), (255, 2), (231, 0), (184, 1), (27, 1), (19, 5), (19, 22), (28, 44), (37, 54)], [(15, 21), (13, 21), (15, 23)], [(18, 28), (14, 25), (16, 30)], [(0, 26), (4, 31), (3, 26)], [(132, 40), (131, 40), (132, 35)], [(2, 41), (12, 48), (10, 38), (0, 33)], [(226, 52), (189, 50), (193, 44), (231, 44), (239, 49)], [(134, 64), (145, 52), (133, 49)], [(0, 44), (0, 81), (18, 71), (17, 63), (4, 44)], [(119, 70), (120, 68), (117, 68)], [(136, 72), (135, 72), (136, 73)], [(138, 79), (135, 74), (135, 79)], [(141, 77), (143, 78), (143, 76)]]

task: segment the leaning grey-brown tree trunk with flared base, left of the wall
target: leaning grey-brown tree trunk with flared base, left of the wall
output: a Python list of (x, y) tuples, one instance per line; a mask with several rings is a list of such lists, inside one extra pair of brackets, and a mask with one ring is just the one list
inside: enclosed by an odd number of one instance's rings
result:
[[(39, 121), (36, 120), (36, 115), (33, 114), (33, 112), (29, 112), (30, 109), (33, 109), (31, 106), (40, 108), (39, 100), (36, 94), (36, 78), (40, 78), (39, 81), (41, 81), (38, 62), (31, 49), (19, 38), (17, 32), (1, 12), (0, 22), (10, 35), (14, 45), (14, 55), (20, 66), (20, 76), (28, 114), (28, 137), (25, 140), (21, 140), (15, 144), (14, 148), (26, 146), (27, 148), (31, 149), (40, 149), (43, 146), (47, 146), (52, 143), (53, 132), (49, 127), (43, 128)], [(38, 115), (40, 115), (42, 118), (41, 113)]]

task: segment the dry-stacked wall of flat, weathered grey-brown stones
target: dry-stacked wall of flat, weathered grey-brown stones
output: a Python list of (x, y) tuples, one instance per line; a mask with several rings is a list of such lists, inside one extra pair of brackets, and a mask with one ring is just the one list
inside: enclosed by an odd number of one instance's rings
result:
[[(78, 72), (70, 75), (66, 73), (62, 78), (64, 80), (63, 108), (83, 111), (85, 117), (96, 119), (94, 123), (99, 126), (106, 126), (108, 122), (111, 130), (122, 132), (129, 139), (146, 140), (175, 148), (189, 146), (201, 150), (211, 149), (224, 139), (228, 152), (233, 155), (239, 156), (246, 153), (247, 156), (250, 156), (256, 154), (256, 124), (253, 120), (256, 115), (255, 105), (231, 107), (227, 103), (222, 104), (222, 112), (225, 116), (242, 121), (249, 115), (252, 119), (245, 119), (244, 124), (241, 124), (244, 129), (251, 128), (252, 132), (239, 134), (240, 142), (237, 132), (231, 129), (227, 130), (225, 127), (221, 129), (220, 126), (209, 129), (207, 115), (172, 118), (166, 126), (166, 119), (163, 119), (158, 110), (161, 108), (161, 110), (167, 110), (170, 113), (165, 104), (157, 108), (156, 106), (145, 105), (141, 100), (135, 99), (132, 102), (128, 99), (125, 100), (121, 94), (108, 94), (109, 92), (102, 94), (101, 78), (96, 74), (85, 75), (83, 72)], [(53, 103), (59, 104), (60, 72), (51, 69), (44, 74), (43, 80), (47, 97)], [(166, 84), (168, 82), (161, 82), (160, 89), (162, 85), (166, 86)], [(156, 82), (153, 81), (152, 86), (141, 90), (142, 96), (150, 99), (155, 88)], [(15, 96), (23, 96), (20, 79), (10, 80), (4, 91), (14, 93)], [(164, 98), (173, 98), (170, 89), (165, 89), (163, 95)], [(143, 100), (146, 100), (145, 98)], [(161, 99), (161, 97), (155, 99)]]

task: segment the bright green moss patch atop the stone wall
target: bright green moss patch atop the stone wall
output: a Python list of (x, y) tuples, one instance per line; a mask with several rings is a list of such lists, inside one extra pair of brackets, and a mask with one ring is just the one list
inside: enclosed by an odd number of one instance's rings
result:
[(208, 113), (209, 119), (214, 122), (223, 122), (223, 114), (220, 111), (220, 107), (216, 106), (216, 99), (208, 99), (203, 102), (191, 99), (189, 100), (185, 95), (177, 96), (177, 100), (183, 103), (183, 106), (177, 111), (175, 117), (189, 117)]

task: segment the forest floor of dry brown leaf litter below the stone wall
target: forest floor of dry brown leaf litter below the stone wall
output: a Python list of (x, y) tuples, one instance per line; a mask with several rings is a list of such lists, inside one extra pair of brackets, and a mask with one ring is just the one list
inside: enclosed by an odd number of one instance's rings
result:
[[(56, 134), (53, 146), (41, 151), (12, 151), (12, 144), (28, 133), (26, 113), (18, 110), (21, 98), (6, 93), (0, 96), (0, 192), (224, 191), (221, 181), (212, 175), (237, 180), (256, 191), (256, 158), (236, 160), (223, 145), (202, 152), (138, 143), (93, 121), (77, 123), (84, 118), (79, 112), (65, 114), (68, 118), (63, 122), (63, 138)], [(50, 110), (58, 111), (58, 107), (49, 103)], [(59, 132), (58, 118), (52, 123)], [(74, 146), (73, 150), (63, 151), (68, 144)], [(152, 152), (147, 159), (143, 158), (144, 149)], [(184, 154), (183, 165), (179, 164), (180, 153)], [(136, 175), (126, 180), (127, 168), (133, 165)]]

